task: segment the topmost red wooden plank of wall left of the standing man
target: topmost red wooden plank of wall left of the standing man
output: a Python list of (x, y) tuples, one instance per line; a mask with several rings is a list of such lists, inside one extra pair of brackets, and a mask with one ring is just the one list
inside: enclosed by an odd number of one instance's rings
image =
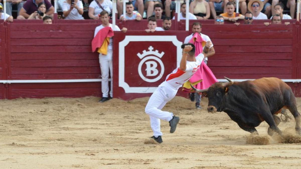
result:
[(100, 24), (85, 24), (82, 23), (80, 24), (51, 24), (51, 25), (47, 25), (47, 24), (36, 24), (36, 23), (32, 23), (32, 24), (18, 24), (18, 23), (14, 23), (10, 25), (10, 30), (12, 32), (17, 32), (17, 31), (25, 31), (25, 30), (30, 30), (33, 32), (37, 32), (37, 31), (42, 31), (42, 32), (48, 32), (48, 31), (61, 31), (61, 32), (65, 32), (65, 31), (95, 31), (95, 28), (97, 26), (99, 26)]

